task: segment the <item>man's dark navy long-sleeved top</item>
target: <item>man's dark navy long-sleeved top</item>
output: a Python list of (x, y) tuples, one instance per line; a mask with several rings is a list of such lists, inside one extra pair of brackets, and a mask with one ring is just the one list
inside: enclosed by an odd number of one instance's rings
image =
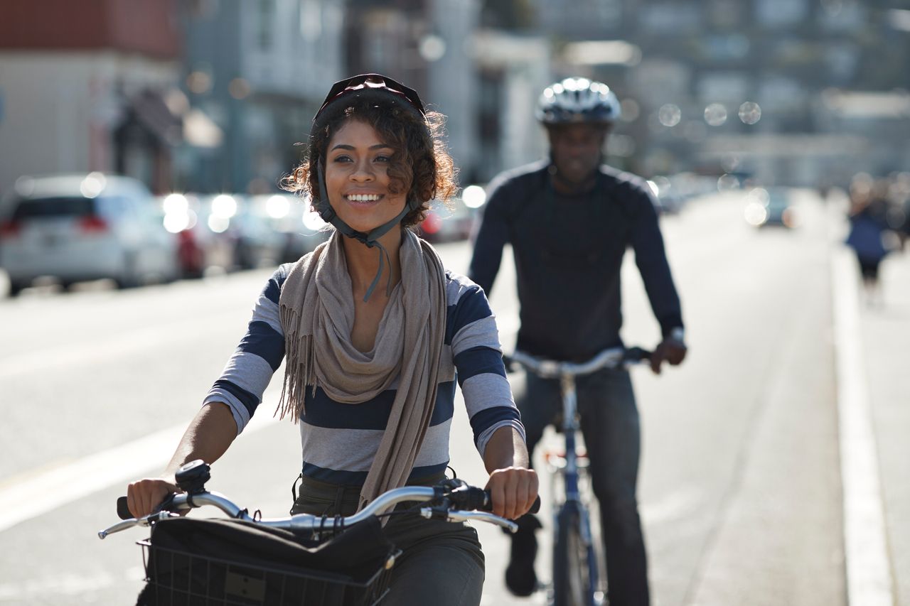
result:
[(470, 263), (487, 293), (510, 243), (518, 275), (517, 347), (581, 361), (622, 345), (620, 268), (632, 247), (664, 336), (682, 328), (649, 188), (641, 178), (602, 166), (581, 195), (554, 192), (549, 162), (502, 174), (490, 184)]

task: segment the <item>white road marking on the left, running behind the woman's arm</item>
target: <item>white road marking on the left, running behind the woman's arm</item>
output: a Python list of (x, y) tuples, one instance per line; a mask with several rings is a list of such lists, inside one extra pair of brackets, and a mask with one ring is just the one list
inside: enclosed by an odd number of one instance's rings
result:
[[(266, 428), (276, 420), (262, 410), (244, 433)], [(97, 490), (161, 470), (185, 429), (186, 425), (163, 429), (0, 488), (0, 532)]]

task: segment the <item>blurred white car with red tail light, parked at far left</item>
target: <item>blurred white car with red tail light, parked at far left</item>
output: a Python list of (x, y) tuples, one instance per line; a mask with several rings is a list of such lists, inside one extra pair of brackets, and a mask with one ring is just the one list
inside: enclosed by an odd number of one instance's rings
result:
[(0, 204), (10, 294), (35, 278), (113, 278), (120, 288), (177, 278), (177, 241), (140, 181), (102, 173), (20, 177)]

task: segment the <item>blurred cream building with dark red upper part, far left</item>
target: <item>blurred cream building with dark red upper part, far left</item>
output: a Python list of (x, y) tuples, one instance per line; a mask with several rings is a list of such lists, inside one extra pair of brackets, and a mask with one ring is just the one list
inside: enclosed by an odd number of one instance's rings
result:
[(0, 18), (0, 189), (116, 171), (164, 189), (183, 140), (173, 0), (30, 0)]

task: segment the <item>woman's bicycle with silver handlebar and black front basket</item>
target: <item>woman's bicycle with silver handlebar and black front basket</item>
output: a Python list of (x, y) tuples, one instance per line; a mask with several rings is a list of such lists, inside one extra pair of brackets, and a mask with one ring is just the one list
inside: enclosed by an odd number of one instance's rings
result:
[[(143, 552), (146, 586), (139, 605), (378, 604), (389, 589), (401, 551), (389, 543), (379, 519), (418, 512), (434, 520), (480, 520), (514, 532), (515, 522), (489, 512), (490, 493), (462, 480), (405, 486), (382, 493), (352, 516), (297, 514), (263, 519), (224, 495), (206, 490), (209, 466), (201, 460), (177, 472), (181, 493), (157, 511), (131, 518), (126, 497), (117, 500), (124, 520), (98, 532), (107, 535), (151, 527)], [(410, 508), (396, 508), (412, 502)], [(536, 510), (540, 501), (535, 504)], [(180, 512), (214, 506), (227, 519), (189, 519)]]

